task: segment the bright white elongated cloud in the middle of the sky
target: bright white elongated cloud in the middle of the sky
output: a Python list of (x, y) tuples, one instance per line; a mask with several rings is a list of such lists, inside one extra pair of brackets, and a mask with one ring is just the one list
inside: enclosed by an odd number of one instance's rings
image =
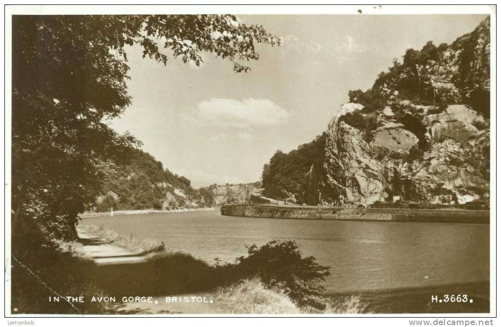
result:
[(217, 126), (247, 128), (269, 126), (286, 120), (289, 112), (268, 99), (216, 98), (201, 101), (197, 106), (200, 119)]

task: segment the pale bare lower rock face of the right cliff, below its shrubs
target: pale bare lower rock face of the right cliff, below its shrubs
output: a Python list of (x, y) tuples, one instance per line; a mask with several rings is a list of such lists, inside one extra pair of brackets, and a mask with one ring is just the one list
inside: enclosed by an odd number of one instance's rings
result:
[[(328, 127), (324, 162), (331, 188), (325, 202), (369, 205), (393, 197), (432, 203), (465, 203), (488, 198), (489, 130), (483, 116), (464, 104), (423, 115), (428, 145), (402, 124), (384, 121), (368, 140), (343, 121), (343, 104)], [(350, 110), (351, 110), (350, 109)], [(352, 112), (352, 111), (351, 111)], [(386, 119), (381, 117), (381, 119)]]

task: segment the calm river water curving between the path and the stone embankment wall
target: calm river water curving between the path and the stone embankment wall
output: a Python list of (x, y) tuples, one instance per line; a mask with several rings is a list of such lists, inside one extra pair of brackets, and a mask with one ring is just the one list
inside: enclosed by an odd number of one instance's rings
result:
[(189, 252), (210, 263), (216, 257), (234, 262), (246, 254), (245, 245), (293, 239), (304, 255), (313, 255), (320, 264), (331, 267), (326, 293), (430, 289), (431, 293), (425, 291), (428, 300), (433, 289), (448, 292), (450, 288), (451, 292), (475, 292), (484, 302), (488, 299), (488, 224), (249, 218), (222, 216), (217, 208), (80, 222), (89, 224), (103, 224), (139, 239), (164, 241), (169, 249)]

